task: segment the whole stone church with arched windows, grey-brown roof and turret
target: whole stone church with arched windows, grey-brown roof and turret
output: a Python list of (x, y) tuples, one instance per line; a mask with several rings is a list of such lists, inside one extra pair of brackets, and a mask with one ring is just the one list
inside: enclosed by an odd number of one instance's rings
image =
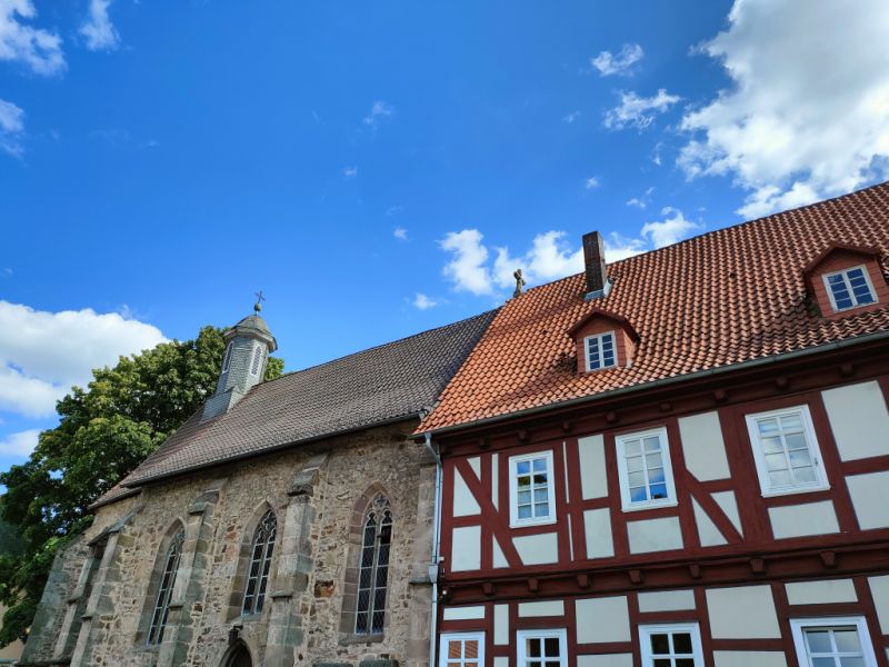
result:
[(247, 317), (213, 396), (93, 506), (22, 665), (429, 664), (434, 458), (419, 419), (495, 312), (262, 382)]

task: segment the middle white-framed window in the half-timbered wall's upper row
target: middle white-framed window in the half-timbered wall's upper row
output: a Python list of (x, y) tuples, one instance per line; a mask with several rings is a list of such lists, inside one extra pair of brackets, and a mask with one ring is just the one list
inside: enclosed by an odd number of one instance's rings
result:
[(667, 430), (625, 434), (616, 440), (623, 509), (676, 505)]

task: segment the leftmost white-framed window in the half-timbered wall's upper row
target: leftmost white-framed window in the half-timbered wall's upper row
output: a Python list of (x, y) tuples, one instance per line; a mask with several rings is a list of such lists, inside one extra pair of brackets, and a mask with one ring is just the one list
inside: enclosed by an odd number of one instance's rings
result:
[(512, 526), (556, 520), (552, 452), (515, 456), (510, 466), (510, 522)]

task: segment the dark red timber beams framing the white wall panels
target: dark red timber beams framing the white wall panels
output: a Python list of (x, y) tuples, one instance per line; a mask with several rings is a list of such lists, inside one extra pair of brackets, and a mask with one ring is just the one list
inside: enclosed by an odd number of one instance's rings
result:
[[(790, 619), (863, 616), (876, 651), (877, 665), (889, 667), (889, 618), (883, 627), (868, 577), (889, 574), (889, 527), (862, 528), (856, 515), (847, 478), (889, 471), (889, 456), (842, 460), (835, 441), (822, 391), (830, 388), (876, 382), (889, 402), (889, 345), (862, 342), (818, 356), (790, 358), (732, 372), (692, 378), (682, 384), (652, 387), (622, 396), (571, 407), (553, 407), (535, 415), (517, 415), (496, 424), (468, 426), (432, 434), (443, 461), (440, 576), (440, 631), (485, 631), (486, 664), (508, 658), (516, 665), (515, 636), (527, 628), (566, 628), (569, 661), (582, 654), (632, 654), (641, 665), (637, 626), (649, 623), (699, 624), (706, 665), (713, 651), (783, 651), (796, 665)], [(745, 417), (795, 406), (807, 406), (829, 488), (763, 497)], [(686, 467), (678, 420), (716, 412), (720, 425), (729, 475), (699, 480)], [(665, 428), (675, 476), (677, 505), (623, 511), (619, 491), (616, 437), (648, 428)], [(585, 499), (578, 440), (592, 435), (603, 438), (607, 495)], [(886, 438), (886, 434), (881, 434)], [(555, 465), (556, 517), (553, 524), (510, 528), (509, 457), (549, 451)], [(849, 457), (847, 457), (848, 459)], [(496, 469), (495, 469), (496, 462)], [(477, 472), (478, 470), (478, 472)], [(479, 511), (453, 516), (455, 478), (459, 471)], [(495, 481), (495, 476), (497, 477)], [(492, 489), (497, 497), (492, 498)], [(713, 494), (731, 491), (737, 517), (729, 516)], [(725, 544), (702, 546), (699, 515), (706, 515)], [(889, 488), (875, 502), (889, 504)], [(802, 504), (830, 504), (837, 529), (830, 532), (777, 538), (770, 510)], [(589, 558), (585, 511), (608, 509), (613, 556)], [(465, 512), (466, 514), (466, 512)], [(676, 517), (681, 546), (657, 552), (631, 552), (629, 524)], [(453, 529), (478, 526), (481, 535), (479, 568), (453, 571)], [(801, 532), (806, 532), (802, 530)], [(522, 565), (512, 538), (555, 534), (557, 556), (552, 563)], [(506, 564), (495, 567), (493, 539)], [(506, 566), (505, 566), (506, 565)], [(852, 581), (855, 601), (792, 606), (786, 583)], [(780, 636), (771, 638), (721, 638), (710, 633), (707, 591), (732, 586), (766, 586), (780, 624)], [(660, 590), (691, 590), (695, 609), (643, 613), (638, 595)], [(623, 596), (632, 627), (630, 640), (578, 644), (573, 600), (597, 596)], [(563, 615), (519, 615), (519, 605), (537, 600), (561, 600)], [(876, 600), (883, 608), (887, 601)], [(452, 620), (447, 609), (483, 607), (483, 619)], [(493, 644), (495, 608), (508, 613), (509, 641)], [(477, 613), (478, 616), (478, 613)], [(451, 615), (453, 618), (453, 615)], [(500, 663), (498, 663), (499, 665)], [(597, 663), (598, 665), (598, 663)]]

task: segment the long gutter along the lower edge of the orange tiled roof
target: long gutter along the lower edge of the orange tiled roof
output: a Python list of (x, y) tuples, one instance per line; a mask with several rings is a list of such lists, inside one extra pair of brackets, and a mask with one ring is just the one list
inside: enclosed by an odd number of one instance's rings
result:
[(603, 400), (606, 398), (613, 398), (623, 396), (627, 394), (635, 394), (637, 391), (645, 391), (647, 389), (657, 389), (659, 387), (670, 387), (672, 385), (677, 385), (679, 382), (685, 382), (688, 380), (695, 380), (699, 378), (707, 378), (713, 376), (720, 376), (728, 372), (735, 372), (737, 370), (746, 370), (748, 368), (757, 368), (760, 366), (770, 366), (773, 364), (779, 364), (782, 361), (787, 361), (790, 359), (799, 359), (803, 357), (810, 357), (812, 355), (819, 355), (821, 352), (828, 352), (831, 350), (840, 350), (848, 347), (853, 347), (857, 345), (863, 345), (867, 342), (880, 341), (889, 339), (889, 330), (885, 331), (875, 331), (873, 334), (867, 334), (865, 336), (857, 336), (856, 338), (847, 338), (843, 340), (837, 340), (835, 342), (827, 342), (823, 345), (817, 345), (815, 347), (803, 348), (799, 350), (792, 350), (790, 352), (781, 352), (778, 355), (772, 355), (770, 357), (760, 357), (758, 359), (750, 359), (748, 361), (741, 361), (739, 364), (730, 364), (728, 366), (720, 366), (718, 368), (709, 368), (707, 370), (699, 370), (696, 372), (689, 372), (681, 376), (676, 376), (671, 378), (661, 378), (659, 380), (652, 380), (651, 382), (643, 382), (641, 385), (632, 385), (630, 387), (621, 387), (619, 389), (612, 389), (611, 391), (605, 391), (602, 394), (592, 394), (589, 396), (581, 396), (579, 398), (571, 398), (569, 400), (563, 400), (560, 402), (555, 404), (547, 404), (545, 406), (535, 406), (532, 408), (526, 408), (525, 410), (516, 410), (515, 412), (507, 412), (505, 415), (496, 415), (493, 417), (486, 417), (485, 419), (478, 419), (476, 421), (467, 421), (463, 424), (457, 424), (453, 426), (446, 426), (440, 429), (431, 429), (428, 431), (421, 431), (417, 434), (426, 435), (427, 438), (430, 438), (432, 434), (438, 436), (444, 434), (451, 434), (459, 430), (466, 430), (468, 428), (477, 428), (482, 426), (489, 426), (492, 424), (499, 424), (501, 421), (508, 421), (521, 417), (527, 417), (530, 415), (537, 415), (539, 412), (543, 412), (546, 410), (553, 410), (559, 408), (569, 408), (573, 406), (585, 405), (589, 402), (593, 402), (597, 400)]

